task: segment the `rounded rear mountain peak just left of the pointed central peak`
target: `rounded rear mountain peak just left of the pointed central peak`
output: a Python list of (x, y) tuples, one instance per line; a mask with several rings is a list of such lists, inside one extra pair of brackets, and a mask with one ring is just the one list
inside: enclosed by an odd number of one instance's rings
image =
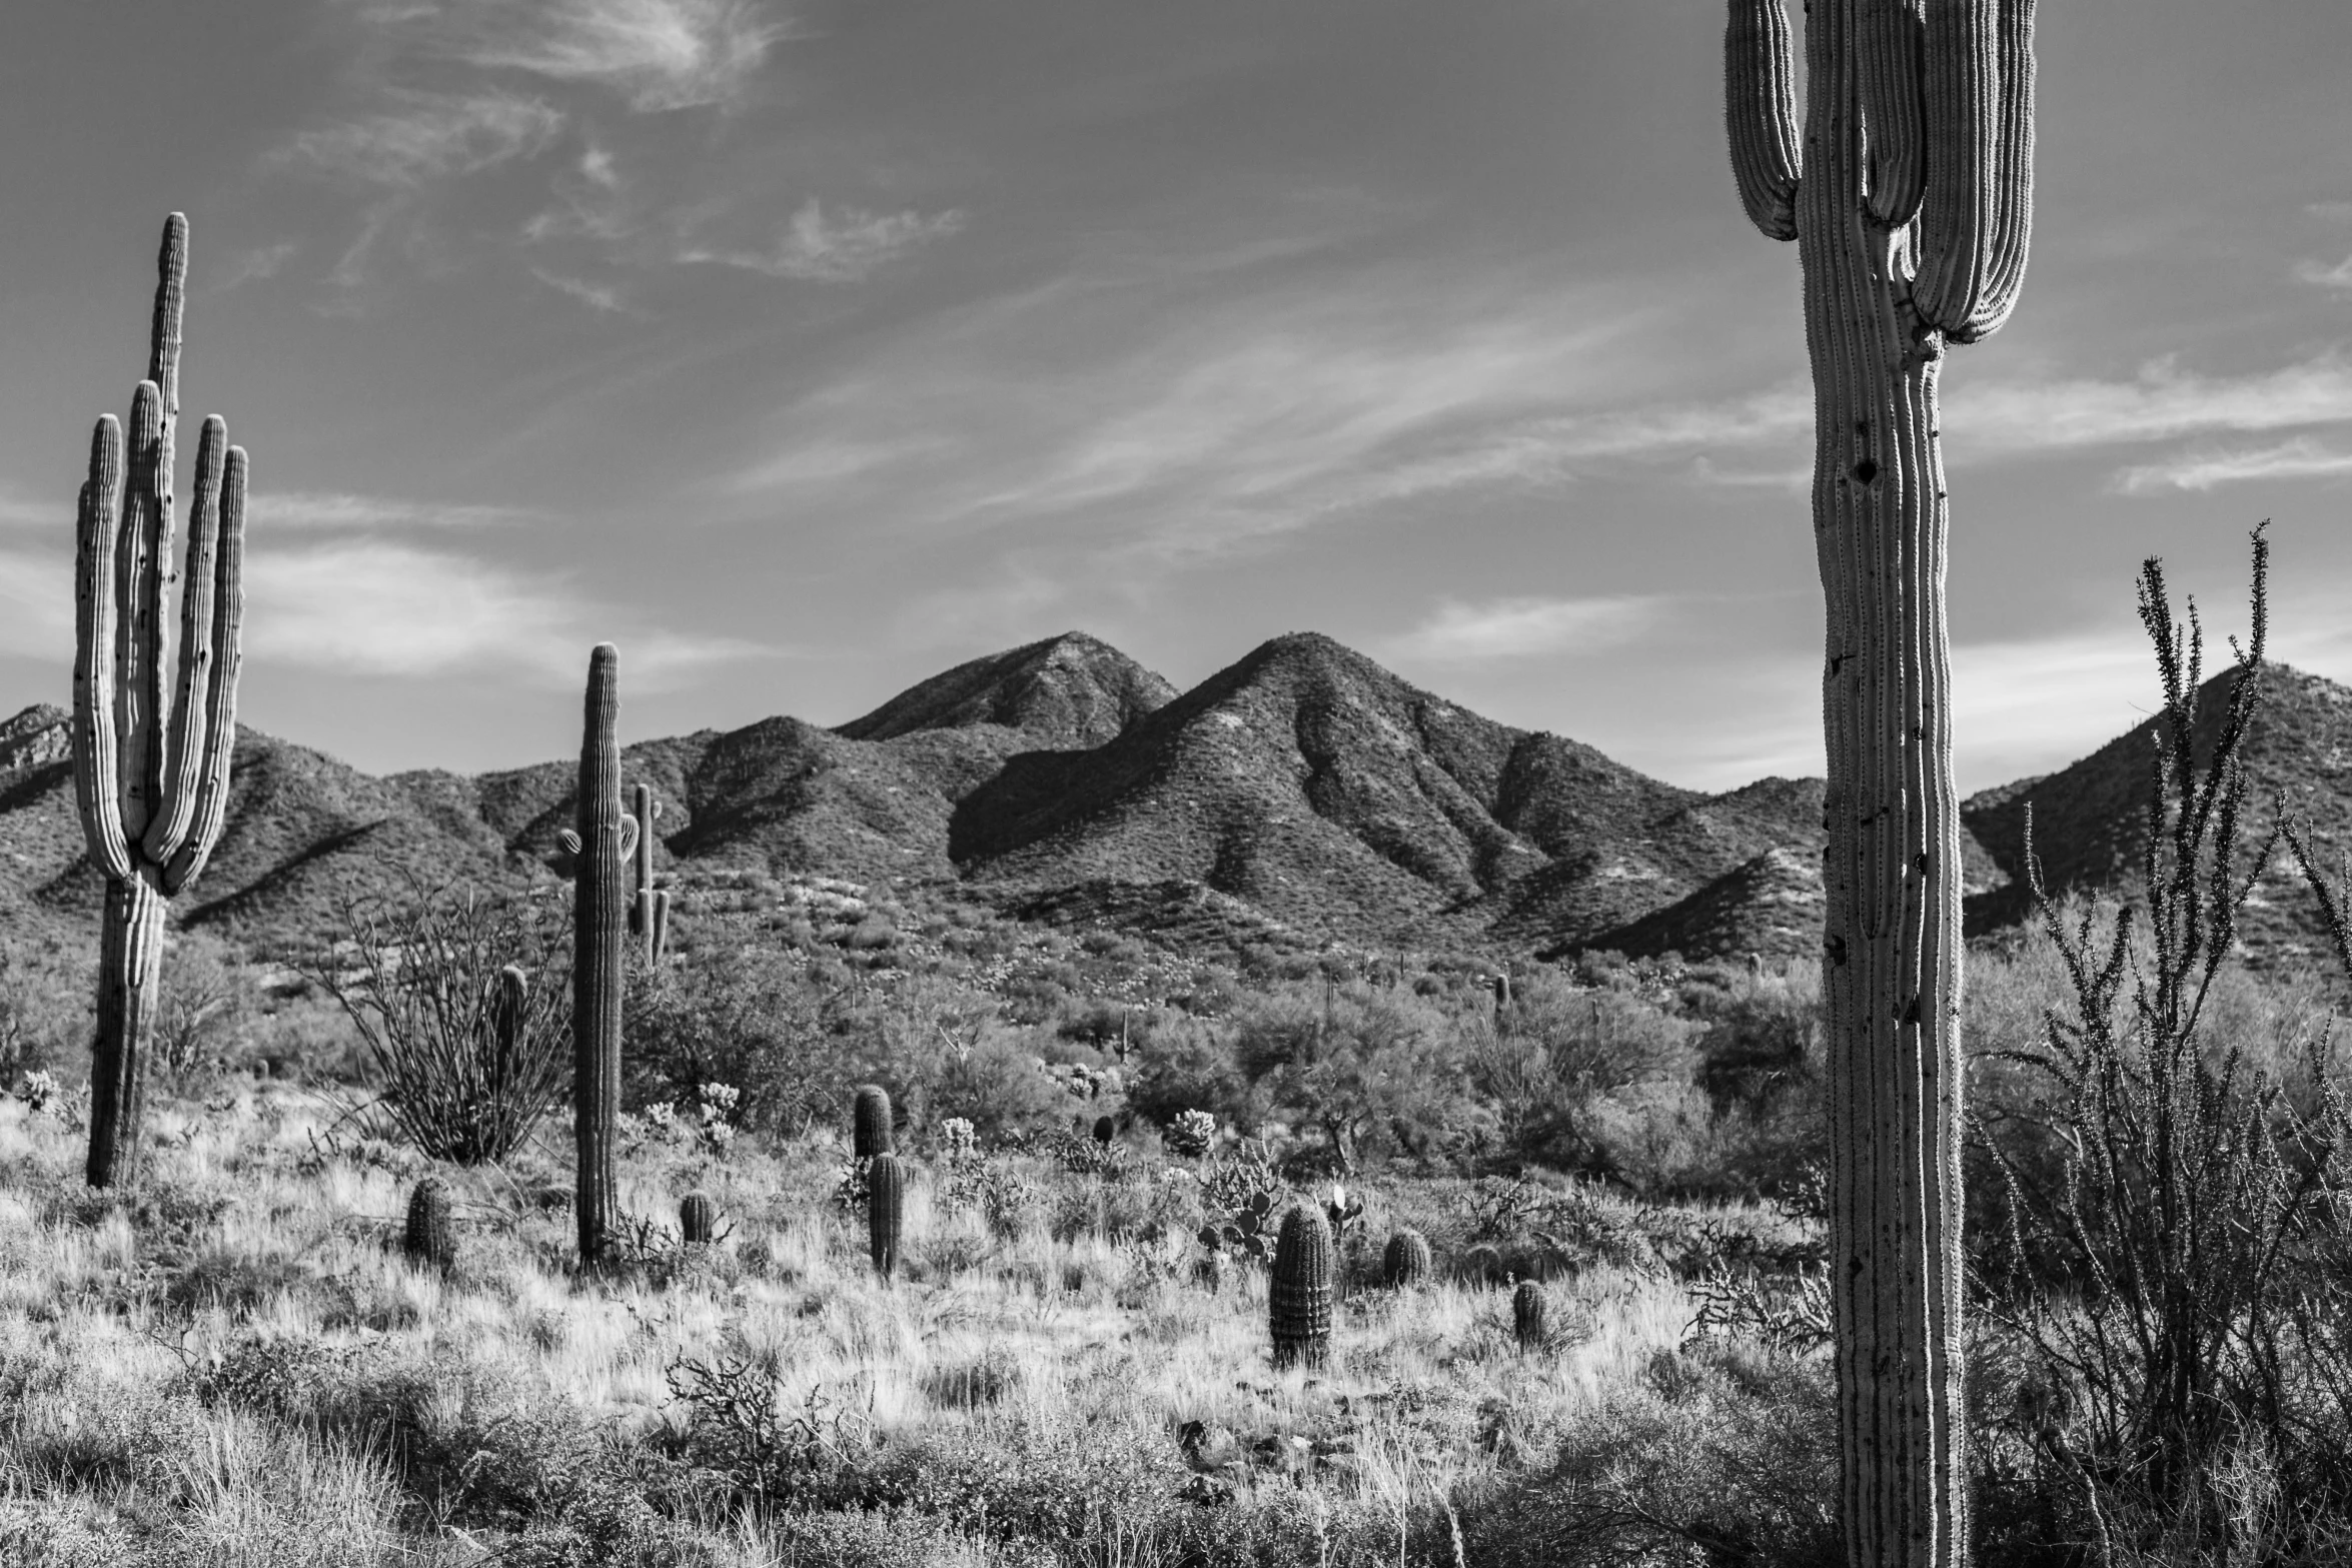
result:
[(1051, 750), (1089, 750), (1174, 698), (1176, 686), (1101, 637), (1061, 632), (960, 663), (833, 733), (894, 741), (922, 729), (1000, 724)]

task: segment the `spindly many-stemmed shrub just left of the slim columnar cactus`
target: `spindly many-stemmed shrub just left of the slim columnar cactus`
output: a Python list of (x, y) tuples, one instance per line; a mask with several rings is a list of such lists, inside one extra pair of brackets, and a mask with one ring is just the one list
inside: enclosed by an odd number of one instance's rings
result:
[[(501, 898), (402, 872), (400, 893), (346, 898), (343, 936), (301, 973), (365, 1041), (376, 1110), (419, 1152), (506, 1159), (564, 1093), (572, 1070), (572, 943), (560, 900)], [(517, 1044), (499, 1032), (506, 966), (529, 976)]]

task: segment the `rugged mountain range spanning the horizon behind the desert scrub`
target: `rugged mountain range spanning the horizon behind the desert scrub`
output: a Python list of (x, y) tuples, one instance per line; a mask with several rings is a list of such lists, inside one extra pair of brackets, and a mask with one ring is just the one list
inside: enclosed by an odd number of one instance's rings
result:
[[(2199, 696), (2211, 748), (2227, 675)], [(2286, 788), (2333, 853), (2352, 820), (2352, 691), (2272, 670), (2249, 748), (2267, 823)], [(0, 724), (0, 931), (87, 933), (99, 879), (73, 809), (68, 715)], [(2145, 736), (1962, 806), (1969, 926), (2023, 910), (2023, 811), (2056, 886), (2122, 891)], [(1590, 745), (1496, 724), (1319, 635), (1277, 637), (1190, 691), (1065, 632), (962, 663), (840, 726), (771, 717), (623, 750), (661, 802), (656, 867), (960, 884), (1033, 919), (1171, 943), (1305, 940), (1562, 954), (1811, 952), (1818, 778), (1708, 795)], [(285, 950), (405, 877), (522, 886), (564, 870), (574, 764), (372, 778), (238, 731), (228, 827), (174, 919)], [(2352, 842), (2352, 839), (2345, 839)], [(2314, 950), (2307, 898), (2258, 889), (2249, 947)]]

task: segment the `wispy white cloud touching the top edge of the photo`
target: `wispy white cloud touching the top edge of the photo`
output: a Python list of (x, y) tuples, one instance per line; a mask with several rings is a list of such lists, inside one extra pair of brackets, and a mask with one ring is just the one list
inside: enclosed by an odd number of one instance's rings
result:
[(593, 82), (640, 110), (727, 103), (788, 33), (750, 0), (459, 0), (400, 12), (402, 26), (470, 66)]

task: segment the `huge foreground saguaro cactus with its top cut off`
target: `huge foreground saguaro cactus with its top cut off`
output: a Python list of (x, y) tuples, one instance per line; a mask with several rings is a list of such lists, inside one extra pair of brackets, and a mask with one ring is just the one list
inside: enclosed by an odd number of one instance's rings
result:
[(2032, 223), (2032, 0), (1729, 0), (1740, 200), (1797, 240), (1828, 599), (1823, 997), (1842, 1507), (1853, 1563), (1957, 1563), (1959, 811), (1936, 383)]

